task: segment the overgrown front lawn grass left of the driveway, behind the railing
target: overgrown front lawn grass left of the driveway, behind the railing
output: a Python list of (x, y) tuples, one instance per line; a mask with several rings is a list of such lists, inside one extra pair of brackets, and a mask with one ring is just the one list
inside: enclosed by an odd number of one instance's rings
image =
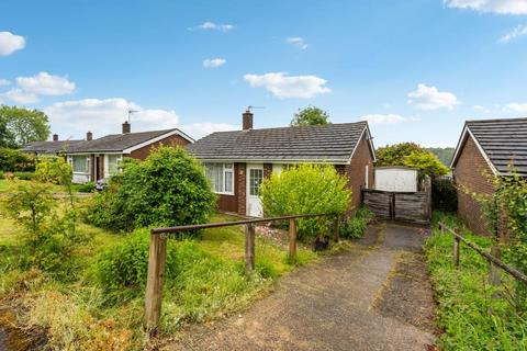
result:
[[(216, 215), (213, 220), (235, 218)], [(42, 328), (56, 350), (133, 350), (146, 342), (143, 329), (144, 288), (109, 290), (97, 280), (97, 261), (127, 239), (124, 235), (79, 225), (92, 239), (75, 251), (75, 276), (59, 281), (40, 271), (20, 271), (10, 263), (20, 254), (16, 230), (0, 218), (0, 305), (12, 307), (21, 326)], [(136, 235), (148, 238), (147, 229)], [(146, 239), (148, 240), (148, 239)], [(172, 332), (240, 310), (272, 286), (273, 279), (294, 268), (285, 247), (258, 238), (256, 273), (244, 270), (243, 227), (208, 229), (201, 239), (169, 240), (177, 252), (178, 274), (166, 281), (161, 330)], [(294, 264), (316, 258), (299, 249)]]

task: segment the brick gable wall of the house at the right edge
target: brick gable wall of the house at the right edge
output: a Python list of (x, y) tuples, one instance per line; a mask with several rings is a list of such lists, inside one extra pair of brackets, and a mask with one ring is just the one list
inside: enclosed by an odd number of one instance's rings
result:
[(479, 194), (492, 194), (494, 188), (486, 178), (492, 176), (492, 170), (470, 135), (460, 152), (455, 168), (458, 186), (458, 214), (472, 231), (489, 235), (484, 220), (481, 218), (480, 204), (467, 194), (464, 189)]

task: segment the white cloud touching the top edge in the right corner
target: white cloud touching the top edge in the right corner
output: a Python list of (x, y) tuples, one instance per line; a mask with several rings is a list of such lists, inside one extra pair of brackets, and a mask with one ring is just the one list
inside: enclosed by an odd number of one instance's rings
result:
[(526, 14), (527, 0), (444, 0), (449, 8), (498, 14)]

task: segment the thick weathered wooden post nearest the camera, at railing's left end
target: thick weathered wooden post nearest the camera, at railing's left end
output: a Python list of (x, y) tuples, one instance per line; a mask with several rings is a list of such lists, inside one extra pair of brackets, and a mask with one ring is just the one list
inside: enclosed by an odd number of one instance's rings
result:
[(162, 278), (167, 258), (167, 238), (150, 233), (148, 275), (146, 280), (145, 321), (152, 333), (156, 332), (161, 315)]

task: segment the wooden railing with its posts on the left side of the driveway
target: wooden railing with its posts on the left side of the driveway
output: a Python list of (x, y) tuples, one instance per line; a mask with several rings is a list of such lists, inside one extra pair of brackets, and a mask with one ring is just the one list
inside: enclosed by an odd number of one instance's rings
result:
[(167, 258), (167, 239), (169, 238), (170, 234), (245, 225), (245, 268), (247, 272), (251, 272), (255, 270), (256, 224), (289, 220), (289, 257), (291, 260), (294, 260), (296, 257), (296, 219), (310, 217), (334, 217), (334, 239), (336, 241), (339, 240), (339, 216), (336, 214), (291, 215), (152, 229), (145, 298), (145, 321), (148, 330), (150, 330), (150, 332), (155, 332), (161, 315), (162, 283)]

